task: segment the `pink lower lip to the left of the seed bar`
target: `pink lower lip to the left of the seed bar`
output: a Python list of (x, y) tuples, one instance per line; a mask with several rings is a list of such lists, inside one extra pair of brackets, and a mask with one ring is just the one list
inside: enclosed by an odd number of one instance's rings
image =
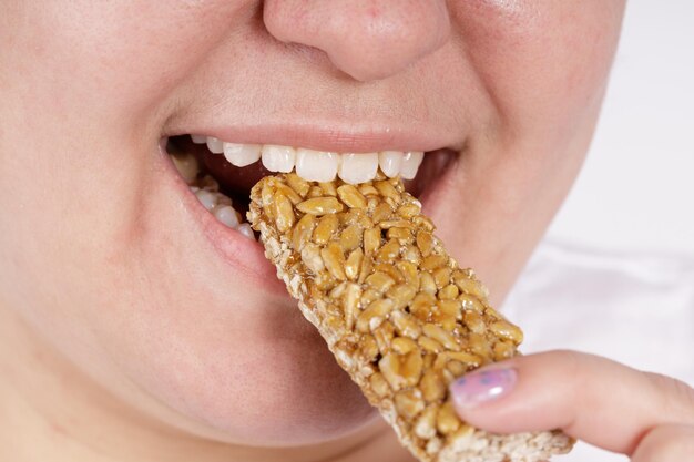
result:
[(236, 229), (220, 223), (190, 191), (188, 185), (181, 178), (176, 168), (167, 158), (165, 146), (160, 143), (160, 156), (166, 174), (173, 179), (173, 187), (177, 189), (181, 203), (188, 211), (190, 216), (200, 227), (212, 247), (222, 260), (232, 266), (235, 271), (242, 271), (252, 279), (255, 287), (265, 291), (287, 296), (284, 284), (277, 278), (275, 267), (265, 258), (263, 246), (242, 235)]

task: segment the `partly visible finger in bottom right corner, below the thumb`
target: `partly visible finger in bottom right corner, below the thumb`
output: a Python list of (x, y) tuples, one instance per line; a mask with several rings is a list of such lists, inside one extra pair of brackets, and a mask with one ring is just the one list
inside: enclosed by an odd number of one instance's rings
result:
[(662, 425), (650, 431), (632, 462), (685, 462), (694, 459), (694, 427)]

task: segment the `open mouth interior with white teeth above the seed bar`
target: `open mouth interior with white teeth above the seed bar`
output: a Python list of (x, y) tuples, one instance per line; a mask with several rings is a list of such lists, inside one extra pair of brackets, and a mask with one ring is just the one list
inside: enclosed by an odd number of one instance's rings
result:
[(228, 228), (256, 239), (245, 216), (251, 188), (263, 176), (295, 172), (310, 182), (339, 176), (353, 184), (401, 177), (422, 198), (457, 155), (452, 150), (335, 153), (282, 145), (238, 144), (202, 135), (171, 136), (166, 152), (200, 203)]

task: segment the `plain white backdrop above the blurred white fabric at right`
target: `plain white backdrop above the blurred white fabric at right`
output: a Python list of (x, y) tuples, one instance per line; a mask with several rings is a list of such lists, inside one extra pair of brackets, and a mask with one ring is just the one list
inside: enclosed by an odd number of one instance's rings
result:
[(627, 2), (593, 145), (548, 236), (694, 255), (694, 1)]

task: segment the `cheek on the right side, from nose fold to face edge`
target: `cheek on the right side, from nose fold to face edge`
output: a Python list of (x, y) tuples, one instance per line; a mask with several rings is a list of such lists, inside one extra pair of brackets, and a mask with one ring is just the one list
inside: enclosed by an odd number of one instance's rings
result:
[[(616, 47), (623, 1), (459, 2), (453, 20), (493, 116), (469, 137), (458, 194), (433, 197), (445, 242), (500, 302), (579, 172)], [(431, 201), (429, 203), (431, 205)], [(445, 204), (466, 220), (446, 222)]]

